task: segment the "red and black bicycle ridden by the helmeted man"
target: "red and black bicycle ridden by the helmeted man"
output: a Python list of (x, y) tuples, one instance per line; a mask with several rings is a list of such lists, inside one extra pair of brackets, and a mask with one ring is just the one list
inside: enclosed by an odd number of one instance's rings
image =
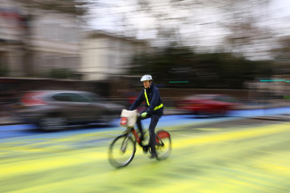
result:
[[(132, 139), (133, 133), (135, 139)], [(157, 147), (155, 146), (157, 157), (155, 159), (166, 159), (171, 152), (170, 134), (165, 130), (159, 130), (155, 133)], [(150, 152), (150, 140), (148, 145), (143, 145), (135, 128), (129, 128), (124, 131), (123, 135), (116, 137), (109, 147), (109, 162), (116, 168), (127, 166), (134, 158), (136, 152), (136, 142), (143, 148), (144, 152)]]

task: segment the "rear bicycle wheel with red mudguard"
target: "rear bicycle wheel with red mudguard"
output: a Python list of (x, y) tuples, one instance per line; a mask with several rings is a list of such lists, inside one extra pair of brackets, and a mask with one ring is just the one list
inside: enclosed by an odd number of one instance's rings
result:
[(161, 139), (161, 141), (160, 141), (160, 139), (158, 139), (158, 137), (156, 137), (156, 140), (157, 140), (156, 153), (158, 156), (156, 159), (157, 160), (166, 159), (171, 153), (170, 134), (164, 130), (159, 130), (159, 131), (157, 131), (156, 134)]

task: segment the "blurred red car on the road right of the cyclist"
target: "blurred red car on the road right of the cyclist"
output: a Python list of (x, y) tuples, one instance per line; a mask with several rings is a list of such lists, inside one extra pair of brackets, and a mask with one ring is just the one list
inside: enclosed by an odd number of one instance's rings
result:
[(202, 94), (184, 98), (177, 108), (188, 110), (196, 115), (224, 115), (236, 105), (238, 105), (237, 100), (229, 95)]

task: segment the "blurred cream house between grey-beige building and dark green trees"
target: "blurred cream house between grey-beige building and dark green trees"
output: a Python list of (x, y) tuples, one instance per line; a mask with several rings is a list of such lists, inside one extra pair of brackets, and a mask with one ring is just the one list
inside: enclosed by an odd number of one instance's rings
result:
[(108, 80), (125, 75), (132, 57), (146, 49), (145, 41), (100, 31), (85, 32), (79, 72), (83, 80)]

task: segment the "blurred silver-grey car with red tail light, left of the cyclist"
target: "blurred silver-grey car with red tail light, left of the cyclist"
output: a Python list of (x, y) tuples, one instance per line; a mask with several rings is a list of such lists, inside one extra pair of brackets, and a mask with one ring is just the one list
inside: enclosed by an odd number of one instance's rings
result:
[(30, 91), (14, 108), (20, 119), (46, 130), (71, 124), (108, 123), (119, 118), (125, 107), (91, 92)]

